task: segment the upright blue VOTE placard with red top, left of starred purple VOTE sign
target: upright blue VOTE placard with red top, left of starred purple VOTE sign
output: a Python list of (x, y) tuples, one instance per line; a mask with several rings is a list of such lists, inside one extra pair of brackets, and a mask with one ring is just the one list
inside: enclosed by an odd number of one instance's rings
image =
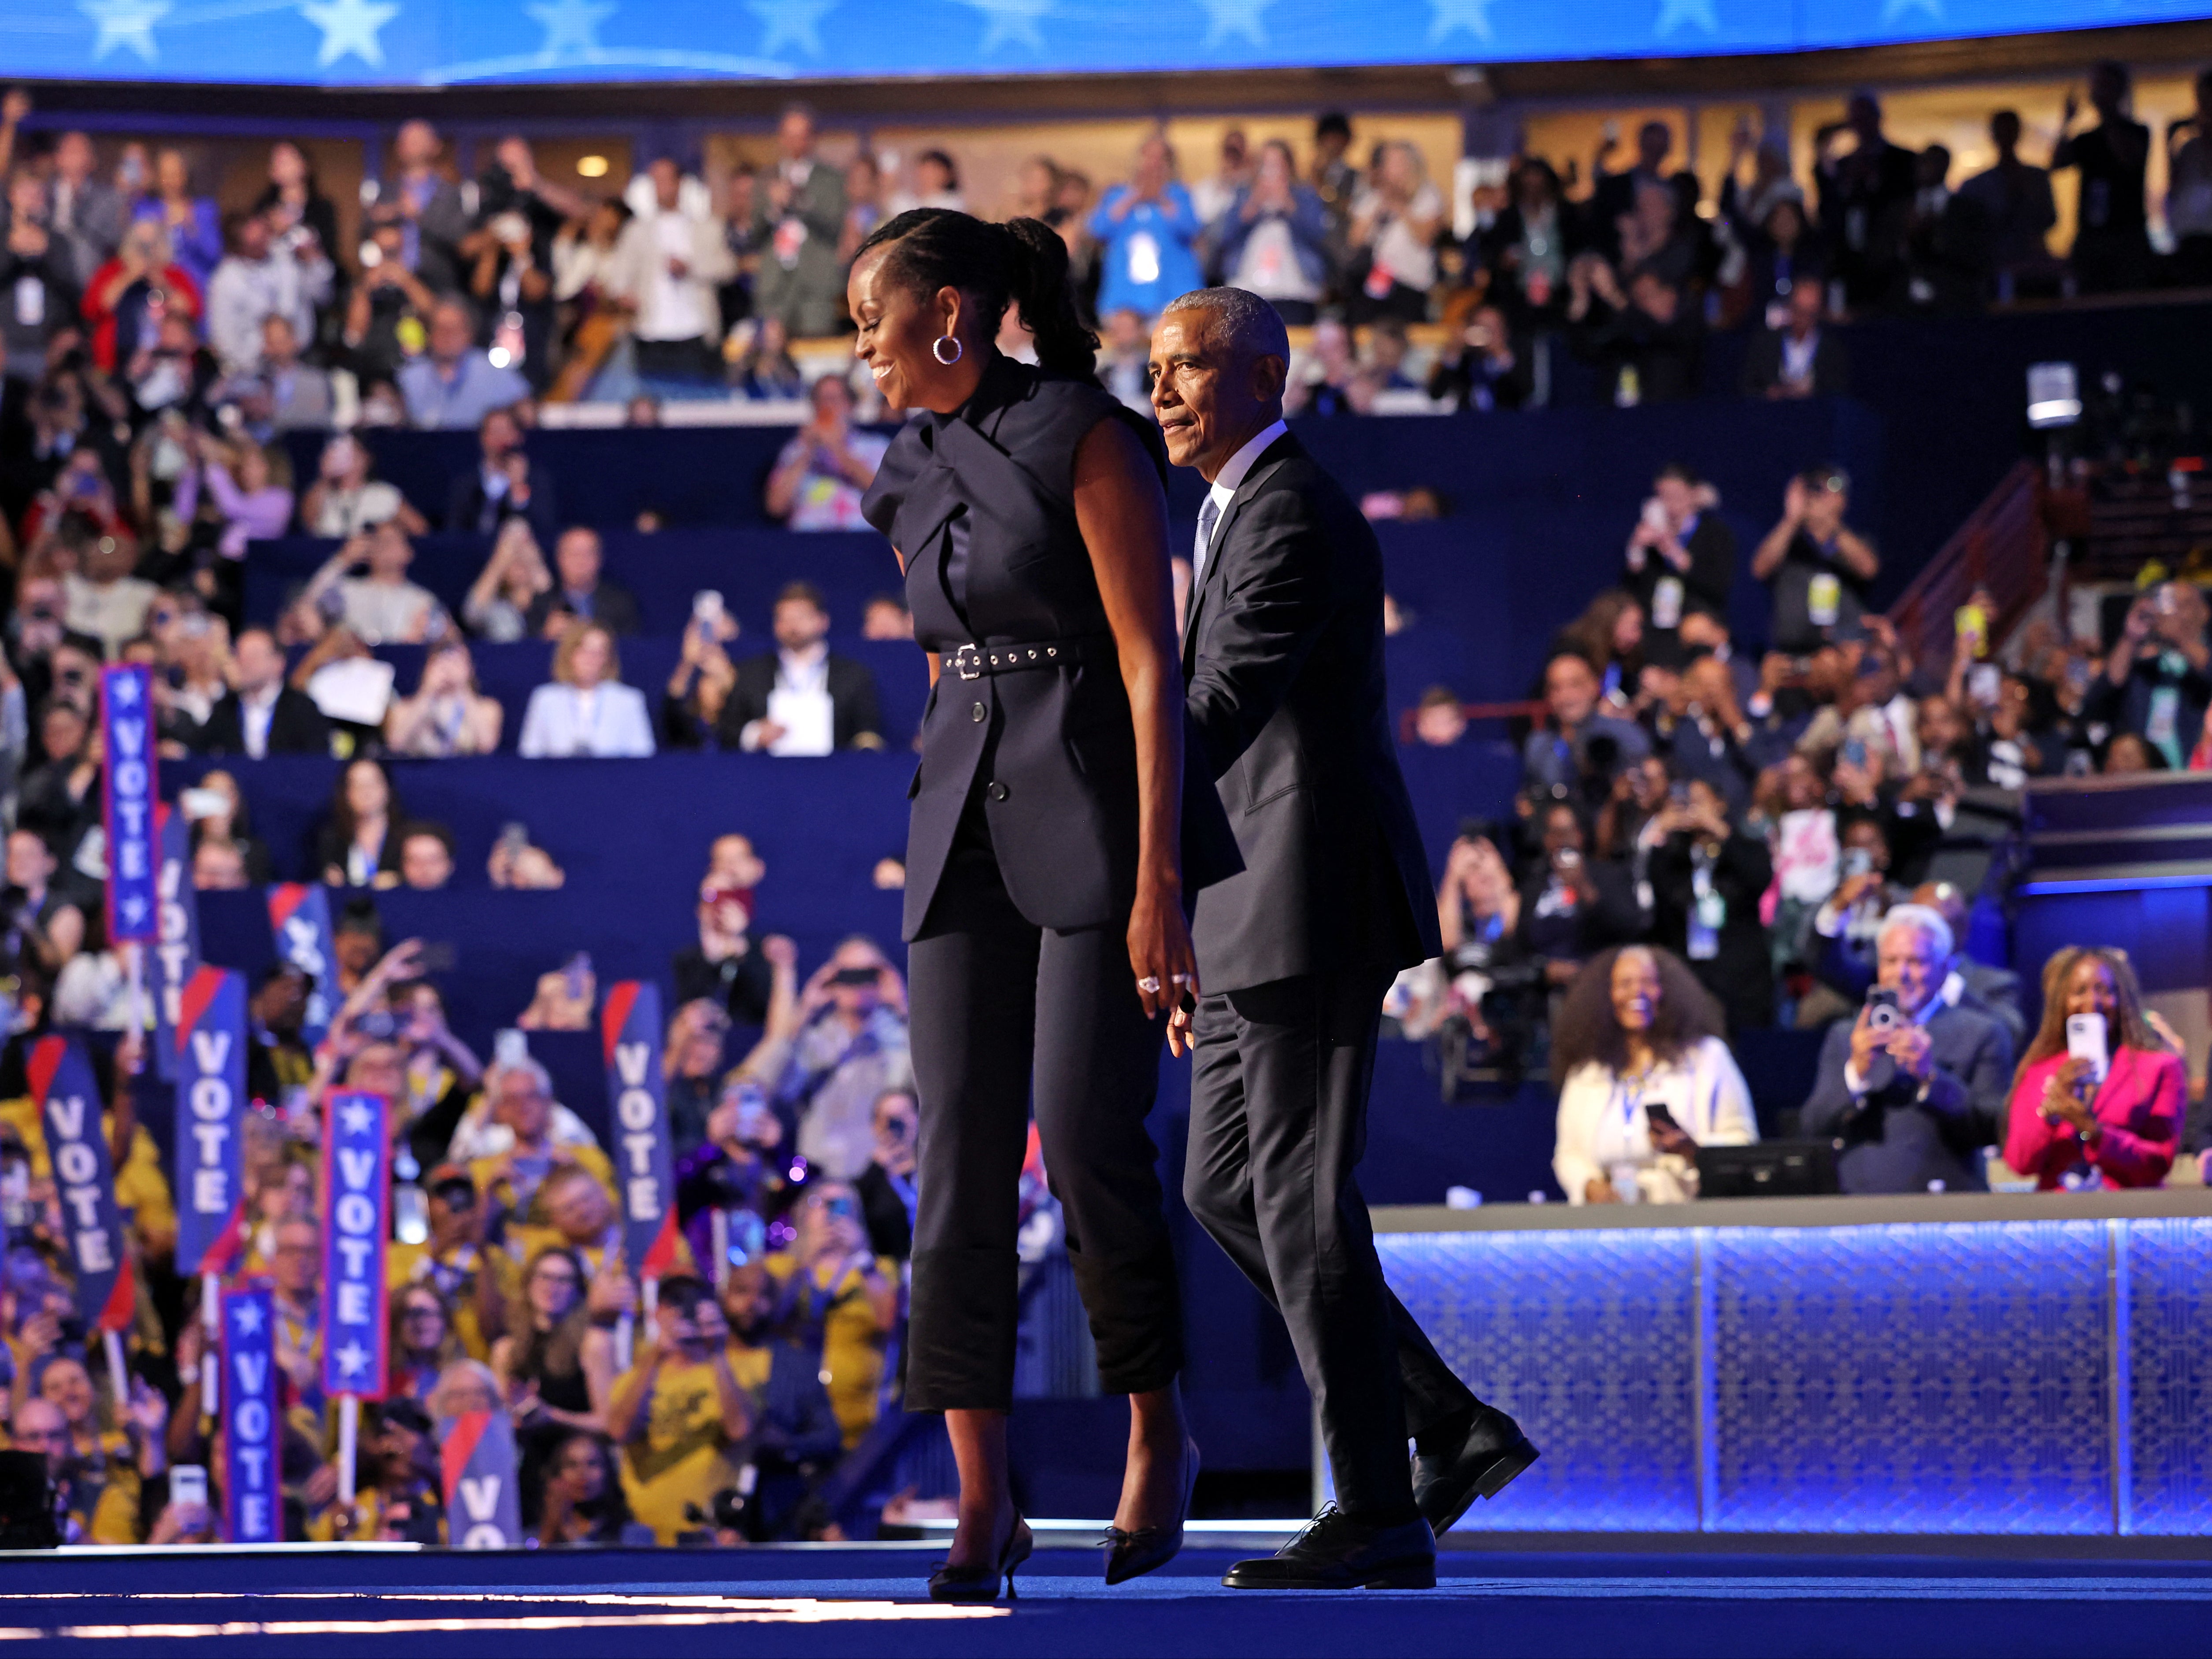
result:
[(177, 1004), (177, 1272), (221, 1274), (246, 1230), (246, 975), (204, 967)]

